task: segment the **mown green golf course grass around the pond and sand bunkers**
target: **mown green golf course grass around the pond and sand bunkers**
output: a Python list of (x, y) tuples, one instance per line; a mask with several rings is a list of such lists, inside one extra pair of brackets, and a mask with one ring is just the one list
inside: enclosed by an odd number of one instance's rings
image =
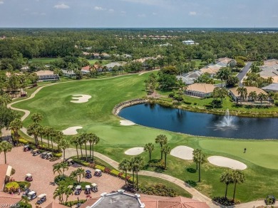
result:
[[(57, 85), (43, 88), (34, 99), (16, 103), (13, 106), (31, 110), (31, 113), (42, 113), (44, 118), (41, 121), (41, 125), (51, 125), (57, 130), (64, 130), (72, 126), (82, 126), (83, 129), (78, 130), (79, 133), (96, 133), (96, 135), (101, 137), (101, 142), (96, 145), (95, 150), (108, 155), (108, 157), (118, 162), (123, 160), (123, 158), (131, 158), (131, 156), (124, 154), (125, 150), (131, 147), (143, 147), (147, 142), (154, 143), (157, 135), (165, 134), (168, 137), (168, 143), (171, 148), (177, 145), (199, 147), (202, 148), (207, 157), (210, 155), (222, 155), (244, 162), (248, 167), (247, 170), (244, 170), (246, 182), (237, 186), (236, 195), (237, 199), (242, 202), (264, 198), (266, 194), (278, 195), (278, 189), (276, 189), (278, 170), (274, 170), (278, 169), (277, 160), (274, 159), (278, 157), (278, 151), (276, 151), (277, 142), (268, 140), (207, 139), (205, 137), (145, 128), (139, 125), (120, 125), (120, 118), (112, 114), (113, 107), (123, 100), (145, 96), (143, 80), (147, 77), (148, 73), (145, 73), (143, 76), (130, 75), (103, 80), (58, 83)], [(87, 103), (71, 103), (70, 101), (74, 94), (91, 95), (92, 98)], [(202, 107), (211, 102), (211, 99), (200, 100), (190, 97), (185, 97), (185, 100), (192, 102), (192, 106), (196, 102), (197, 105)], [(224, 107), (221, 109), (223, 112), (227, 108), (246, 110), (244, 107), (235, 107), (229, 98), (224, 100), (223, 105)], [(273, 111), (273, 108), (256, 108), (254, 110), (258, 110), (258, 112), (264, 110)], [(24, 126), (31, 123), (30, 117), (24, 121)], [(245, 154), (242, 153), (244, 147), (247, 147), (247, 153)], [(143, 152), (141, 155), (145, 160), (145, 164), (147, 164), (148, 152)], [(153, 159), (160, 158), (158, 144), (155, 144), (155, 151), (152, 157)], [(202, 182), (197, 182), (197, 172), (194, 172), (194, 169), (194, 162), (180, 160), (168, 155), (168, 170), (155, 171), (178, 177), (210, 197), (223, 196), (225, 194), (225, 184), (220, 183), (220, 176), (222, 172), (227, 170), (226, 168), (215, 167), (206, 162), (202, 165)], [(154, 169), (148, 168), (148, 170)], [(228, 195), (232, 197), (232, 186), (230, 186)]]

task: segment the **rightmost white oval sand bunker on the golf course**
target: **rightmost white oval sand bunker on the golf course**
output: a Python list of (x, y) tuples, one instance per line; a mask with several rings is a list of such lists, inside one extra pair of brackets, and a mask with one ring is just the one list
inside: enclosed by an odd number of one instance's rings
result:
[(228, 157), (211, 156), (207, 157), (207, 160), (213, 165), (220, 167), (229, 167), (233, 170), (244, 170), (247, 168), (247, 165), (245, 165), (244, 163), (237, 160), (232, 160)]

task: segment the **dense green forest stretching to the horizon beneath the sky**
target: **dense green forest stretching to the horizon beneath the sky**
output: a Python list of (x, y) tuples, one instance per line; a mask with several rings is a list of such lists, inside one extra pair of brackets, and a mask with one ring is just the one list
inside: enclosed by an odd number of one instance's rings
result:
[[(177, 63), (278, 58), (276, 28), (1, 28), (0, 38), (1, 69), (9, 64), (19, 69), (31, 58), (78, 57), (83, 51), (130, 54), (133, 59), (161, 55)], [(187, 46), (182, 43), (186, 40), (199, 44)]]

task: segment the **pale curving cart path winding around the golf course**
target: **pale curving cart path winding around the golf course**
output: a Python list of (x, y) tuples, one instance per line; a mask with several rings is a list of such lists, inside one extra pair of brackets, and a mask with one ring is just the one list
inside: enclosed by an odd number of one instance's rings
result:
[[(103, 79), (108, 79), (108, 78), (103, 78)], [(73, 81), (74, 80), (68, 81), (68, 82), (73, 82)], [(63, 82), (63, 83), (68, 83), (68, 82)], [(43, 86), (39, 87), (38, 89), (36, 89), (36, 91), (34, 91), (34, 93), (32, 93), (29, 98), (26, 98), (26, 99), (23, 99), (23, 100), (17, 100), (14, 103), (9, 103), (9, 105), (7, 105), (7, 107), (11, 108), (12, 110), (18, 110), (18, 111), (24, 112), (24, 115), (21, 117), (21, 120), (23, 121), (30, 115), (30, 111), (20, 109), (20, 108), (14, 108), (14, 107), (11, 107), (11, 105), (13, 105), (15, 103), (20, 103), (24, 100), (30, 100), (31, 98), (34, 98), (36, 93), (38, 93), (42, 88), (45, 88), (45, 87), (50, 86), (50, 85), (56, 85), (56, 84), (59, 84), (59, 83), (51, 83), (51, 84), (48, 84), (48, 85), (43, 85)], [(24, 132), (24, 134), (28, 135), (27, 132), (26, 132), (26, 128), (21, 128), (21, 131)], [(43, 142), (47, 142), (47, 140), (43, 139)], [(53, 145), (57, 146), (55, 143), (53, 143)], [(71, 157), (73, 155), (76, 155), (76, 149), (68, 148), (65, 152), (65, 155), (67, 157)], [(94, 155), (96, 157), (98, 157), (99, 159), (107, 162), (109, 165), (111, 165), (115, 169), (118, 169), (119, 163), (116, 162), (115, 160), (112, 160), (110, 157), (107, 157), (107, 156), (105, 156), (105, 155), (103, 155), (99, 152), (94, 152)], [(158, 178), (163, 179), (163, 180), (168, 180), (169, 182), (173, 182), (173, 183), (177, 184), (178, 186), (182, 187), (182, 189), (185, 189), (187, 192), (192, 194), (192, 199), (196, 199), (196, 200), (199, 200), (201, 202), (206, 202), (207, 205), (209, 205), (212, 208), (214, 208), (214, 207), (223, 207), (223, 206), (220, 206), (218, 204), (215, 204), (215, 202), (213, 202), (212, 199), (210, 199), (209, 197), (205, 196), (204, 194), (198, 192), (196, 189), (191, 187), (189, 184), (183, 182), (180, 179), (177, 179), (176, 177), (173, 177), (173, 176), (170, 176), (170, 175), (165, 175), (165, 174), (159, 173), (159, 172), (150, 172), (150, 171), (146, 171), (146, 170), (140, 171), (139, 175), (145, 175), (145, 176), (150, 176), (150, 177), (158, 177)], [(244, 207), (253, 207), (253, 206), (258, 207), (258, 206), (261, 206), (261, 205), (265, 205), (263, 200), (258, 200), (258, 201), (254, 201), (254, 202), (239, 204), (239, 205), (236, 205), (236, 206), (233, 206), (233, 207), (244, 208)]]

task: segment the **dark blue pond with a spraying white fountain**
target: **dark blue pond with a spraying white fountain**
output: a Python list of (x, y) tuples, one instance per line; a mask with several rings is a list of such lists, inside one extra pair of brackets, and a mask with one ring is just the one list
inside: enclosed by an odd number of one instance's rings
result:
[(118, 115), (138, 125), (190, 135), (278, 139), (278, 118), (228, 118), (227, 115), (194, 113), (148, 103), (123, 108)]

